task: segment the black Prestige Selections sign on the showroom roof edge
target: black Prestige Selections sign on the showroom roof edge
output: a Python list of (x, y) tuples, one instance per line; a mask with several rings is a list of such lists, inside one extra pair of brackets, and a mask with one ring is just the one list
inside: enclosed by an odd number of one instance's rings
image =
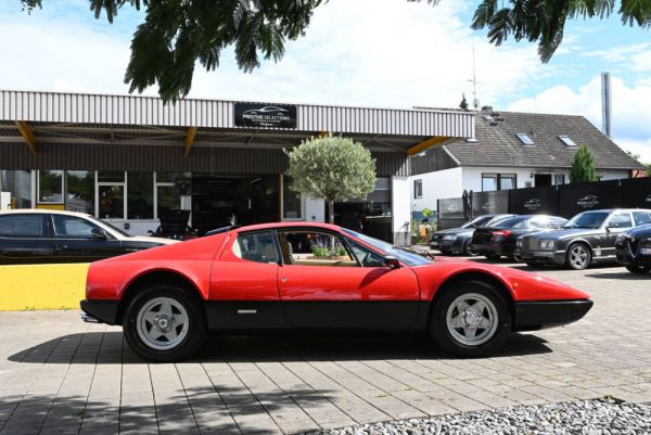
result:
[(296, 106), (288, 104), (235, 103), (235, 126), (296, 128)]

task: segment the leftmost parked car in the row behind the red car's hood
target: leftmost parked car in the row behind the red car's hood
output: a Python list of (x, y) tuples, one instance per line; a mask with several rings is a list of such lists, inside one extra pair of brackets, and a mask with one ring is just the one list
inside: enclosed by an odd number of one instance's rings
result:
[(493, 226), (501, 219), (514, 215), (483, 215), (469, 220), (459, 228), (436, 231), (430, 238), (430, 247), (438, 250), (444, 255), (465, 254), (475, 256), (477, 253), (473, 248), (472, 234), (475, 228)]

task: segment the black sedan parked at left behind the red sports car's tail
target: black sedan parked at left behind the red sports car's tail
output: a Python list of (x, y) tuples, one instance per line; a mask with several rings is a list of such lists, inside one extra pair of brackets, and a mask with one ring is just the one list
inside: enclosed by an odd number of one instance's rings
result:
[(0, 265), (88, 263), (175, 242), (129, 235), (84, 213), (0, 212)]

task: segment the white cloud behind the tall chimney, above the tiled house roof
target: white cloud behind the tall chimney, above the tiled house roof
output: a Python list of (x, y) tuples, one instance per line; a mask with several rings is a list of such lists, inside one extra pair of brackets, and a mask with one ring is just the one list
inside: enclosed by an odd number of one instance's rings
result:
[[(618, 78), (612, 86), (612, 133), (624, 150), (651, 162), (651, 86), (628, 87)], [(509, 111), (583, 115), (601, 128), (601, 79), (595, 77), (577, 91), (566, 86), (549, 88), (533, 98), (509, 104)]]

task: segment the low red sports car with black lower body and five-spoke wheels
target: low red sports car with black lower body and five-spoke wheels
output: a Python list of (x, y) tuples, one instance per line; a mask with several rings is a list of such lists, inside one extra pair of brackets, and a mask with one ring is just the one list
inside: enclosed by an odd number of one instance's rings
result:
[(429, 331), (464, 357), (511, 331), (580, 319), (589, 296), (515, 269), (429, 259), (323, 223), (265, 223), (93, 263), (87, 321), (122, 324), (154, 361), (190, 357), (208, 331)]

